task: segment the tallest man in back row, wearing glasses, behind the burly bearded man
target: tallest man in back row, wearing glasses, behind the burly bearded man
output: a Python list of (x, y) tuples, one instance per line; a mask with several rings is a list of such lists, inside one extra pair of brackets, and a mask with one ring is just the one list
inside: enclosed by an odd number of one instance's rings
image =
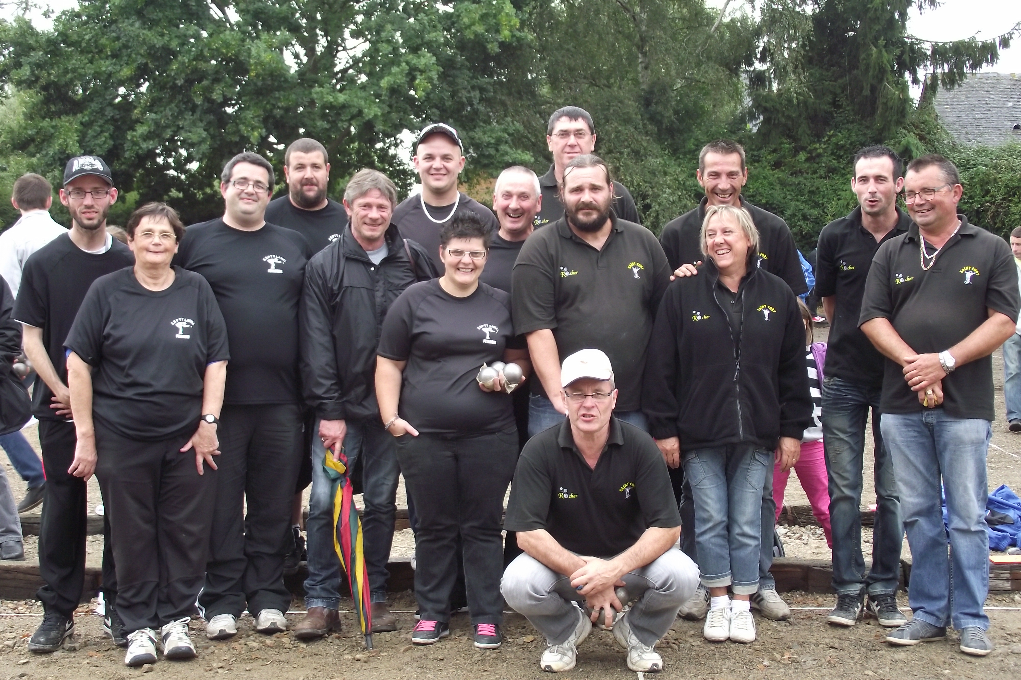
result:
[[(542, 206), (535, 215), (536, 227), (556, 222), (564, 216), (564, 203), (560, 195), (564, 168), (572, 158), (594, 153), (595, 124), (592, 122), (592, 116), (578, 106), (564, 106), (556, 109), (546, 125), (546, 146), (553, 155), (553, 162), (549, 166), (549, 172), (539, 178), (539, 185), (542, 187)], [(621, 220), (636, 225), (641, 224), (635, 199), (620, 182), (614, 182), (611, 206)]]

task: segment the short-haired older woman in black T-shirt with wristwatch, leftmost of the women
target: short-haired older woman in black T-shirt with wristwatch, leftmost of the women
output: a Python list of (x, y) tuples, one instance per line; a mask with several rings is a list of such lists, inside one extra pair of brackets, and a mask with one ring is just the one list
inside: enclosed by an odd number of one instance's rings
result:
[[(67, 335), (78, 434), (71, 472), (99, 477), (128, 666), (192, 659), (188, 622), (205, 576), (227, 327), (209, 284), (171, 266), (184, 235), (148, 203), (126, 226), (135, 265), (97, 279)], [(157, 633), (158, 631), (158, 633)]]

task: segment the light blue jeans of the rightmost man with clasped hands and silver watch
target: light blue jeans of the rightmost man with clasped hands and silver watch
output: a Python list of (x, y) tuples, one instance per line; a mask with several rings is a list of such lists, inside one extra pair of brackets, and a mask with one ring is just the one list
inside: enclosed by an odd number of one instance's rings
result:
[[(883, 438), (896, 472), (913, 566), (908, 601), (916, 619), (962, 630), (989, 627), (982, 610), (989, 592), (989, 422), (953, 418), (942, 408), (883, 414)], [(940, 508), (940, 482), (947, 525)], [(950, 534), (950, 554), (946, 543)]]

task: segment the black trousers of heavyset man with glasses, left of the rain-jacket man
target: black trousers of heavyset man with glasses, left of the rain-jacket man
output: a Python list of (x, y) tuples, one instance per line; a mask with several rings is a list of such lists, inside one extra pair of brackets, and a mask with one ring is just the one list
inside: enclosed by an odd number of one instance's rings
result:
[(262, 610), (286, 612), (291, 593), (284, 587), (284, 556), (291, 544), (291, 503), (303, 451), (301, 408), (225, 405), (218, 436), (216, 502), (200, 611), (207, 621), (220, 614), (240, 617), (246, 602), (253, 617)]

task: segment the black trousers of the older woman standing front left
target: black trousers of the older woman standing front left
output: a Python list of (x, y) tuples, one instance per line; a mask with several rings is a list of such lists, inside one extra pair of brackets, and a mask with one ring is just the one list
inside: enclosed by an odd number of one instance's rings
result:
[(117, 564), (117, 614), (125, 634), (191, 616), (205, 580), (216, 471), (195, 451), (191, 433), (136, 441), (96, 423), (96, 473)]

